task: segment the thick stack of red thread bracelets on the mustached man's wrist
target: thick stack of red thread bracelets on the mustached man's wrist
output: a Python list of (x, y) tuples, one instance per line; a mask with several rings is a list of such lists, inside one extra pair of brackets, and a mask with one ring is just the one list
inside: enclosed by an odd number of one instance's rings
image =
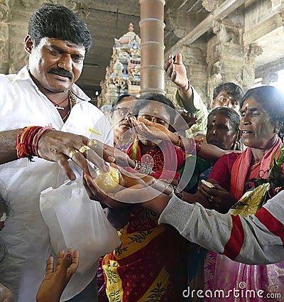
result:
[(26, 126), (18, 132), (16, 138), (17, 157), (27, 157), (32, 161), (33, 156), (38, 156), (38, 141), (46, 130), (55, 130), (52, 126)]

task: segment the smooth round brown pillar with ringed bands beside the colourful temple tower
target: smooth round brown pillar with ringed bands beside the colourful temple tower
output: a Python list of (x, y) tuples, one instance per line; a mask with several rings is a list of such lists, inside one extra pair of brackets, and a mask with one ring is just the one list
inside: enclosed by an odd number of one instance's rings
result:
[(140, 0), (141, 5), (141, 95), (165, 94), (164, 0)]

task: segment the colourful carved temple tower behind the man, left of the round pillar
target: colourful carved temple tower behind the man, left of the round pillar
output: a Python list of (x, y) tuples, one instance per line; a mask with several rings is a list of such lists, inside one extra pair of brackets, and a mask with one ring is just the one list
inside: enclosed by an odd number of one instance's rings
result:
[(134, 33), (132, 23), (128, 33), (119, 39), (114, 38), (111, 61), (105, 79), (100, 83), (102, 93), (97, 105), (103, 112), (111, 108), (119, 95), (140, 95), (140, 43), (141, 38)]

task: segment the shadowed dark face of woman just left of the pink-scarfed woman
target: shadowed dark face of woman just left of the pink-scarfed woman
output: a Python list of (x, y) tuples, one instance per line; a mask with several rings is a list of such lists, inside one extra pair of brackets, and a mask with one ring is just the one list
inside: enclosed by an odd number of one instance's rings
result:
[(228, 117), (223, 114), (211, 114), (207, 122), (206, 141), (224, 150), (230, 150), (234, 146), (237, 133), (231, 126)]

